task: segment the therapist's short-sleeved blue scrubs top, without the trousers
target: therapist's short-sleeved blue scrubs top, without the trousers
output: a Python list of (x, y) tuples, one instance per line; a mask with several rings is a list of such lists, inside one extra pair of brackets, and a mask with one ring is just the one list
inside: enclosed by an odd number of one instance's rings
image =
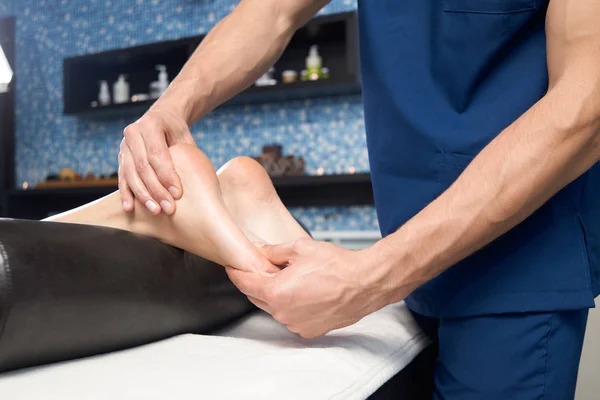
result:
[[(547, 5), (359, 0), (367, 143), (384, 235), (438, 197), (545, 94)], [(553, 311), (593, 307), (599, 290), (596, 164), (407, 303), (431, 317)]]

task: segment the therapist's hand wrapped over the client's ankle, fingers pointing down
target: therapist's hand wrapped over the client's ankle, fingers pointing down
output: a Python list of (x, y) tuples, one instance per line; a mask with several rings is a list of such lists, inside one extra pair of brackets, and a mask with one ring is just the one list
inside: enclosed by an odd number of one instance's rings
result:
[(125, 128), (119, 153), (119, 191), (125, 211), (133, 211), (135, 198), (152, 214), (175, 212), (183, 194), (168, 148), (194, 144), (187, 123), (164, 110), (151, 109)]

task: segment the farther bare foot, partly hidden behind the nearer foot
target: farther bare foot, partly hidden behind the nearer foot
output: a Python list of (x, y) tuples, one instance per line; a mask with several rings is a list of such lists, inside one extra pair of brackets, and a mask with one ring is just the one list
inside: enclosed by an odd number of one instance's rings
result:
[(236, 157), (219, 169), (217, 176), (229, 214), (251, 241), (280, 244), (309, 237), (255, 160)]

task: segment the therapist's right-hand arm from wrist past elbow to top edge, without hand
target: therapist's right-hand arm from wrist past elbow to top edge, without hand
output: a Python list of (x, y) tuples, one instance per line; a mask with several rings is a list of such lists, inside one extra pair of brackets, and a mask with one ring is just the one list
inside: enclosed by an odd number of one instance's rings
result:
[(547, 94), (446, 192), (369, 251), (395, 283), (390, 301), (519, 224), (598, 162), (599, 20), (598, 0), (550, 2)]

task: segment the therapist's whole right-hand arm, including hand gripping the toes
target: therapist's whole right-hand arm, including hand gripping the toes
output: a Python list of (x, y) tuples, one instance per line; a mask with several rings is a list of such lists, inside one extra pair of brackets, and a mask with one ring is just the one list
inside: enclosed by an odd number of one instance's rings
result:
[(230, 279), (290, 331), (312, 338), (404, 299), (516, 226), (598, 161), (599, 19), (598, 0), (551, 0), (547, 95), (398, 231), (356, 252), (310, 239), (265, 246), (286, 268), (270, 276), (228, 268)]

